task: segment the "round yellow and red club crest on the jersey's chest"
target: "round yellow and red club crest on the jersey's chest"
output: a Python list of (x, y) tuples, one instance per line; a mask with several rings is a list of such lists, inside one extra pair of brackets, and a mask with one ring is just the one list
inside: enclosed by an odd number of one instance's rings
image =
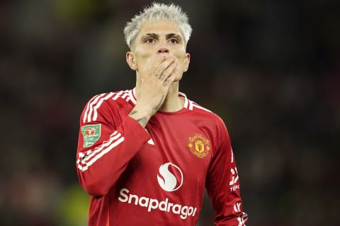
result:
[(208, 155), (210, 143), (202, 134), (196, 133), (194, 136), (189, 137), (188, 147), (193, 155), (202, 158)]

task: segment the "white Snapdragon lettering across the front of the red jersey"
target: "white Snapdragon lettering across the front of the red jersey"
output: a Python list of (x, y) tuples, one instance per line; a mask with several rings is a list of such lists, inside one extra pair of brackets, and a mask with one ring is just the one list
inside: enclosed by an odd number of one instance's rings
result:
[(179, 204), (174, 204), (169, 202), (169, 198), (165, 198), (164, 201), (158, 201), (154, 198), (140, 197), (134, 194), (129, 194), (130, 191), (128, 189), (120, 189), (120, 196), (118, 200), (122, 203), (128, 202), (129, 204), (133, 203), (135, 206), (141, 206), (147, 208), (147, 212), (151, 212), (152, 210), (161, 210), (167, 213), (174, 213), (179, 215), (181, 219), (186, 219), (188, 216), (195, 216), (196, 207), (193, 206), (181, 206)]

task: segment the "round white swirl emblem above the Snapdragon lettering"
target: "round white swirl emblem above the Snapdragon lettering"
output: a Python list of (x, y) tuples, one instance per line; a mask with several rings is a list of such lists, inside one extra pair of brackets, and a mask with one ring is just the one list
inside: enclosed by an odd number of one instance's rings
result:
[[(169, 167), (171, 171), (173, 171), (174, 173), (170, 172)], [(181, 182), (177, 182), (175, 174), (177, 174), (178, 177), (181, 177), (180, 179)], [(159, 167), (159, 174), (157, 174), (157, 180), (159, 186), (161, 186), (161, 188), (164, 191), (176, 191), (183, 184), (183, 174), (178, 166), (172, 164), (171, 162), (168, 162)]]

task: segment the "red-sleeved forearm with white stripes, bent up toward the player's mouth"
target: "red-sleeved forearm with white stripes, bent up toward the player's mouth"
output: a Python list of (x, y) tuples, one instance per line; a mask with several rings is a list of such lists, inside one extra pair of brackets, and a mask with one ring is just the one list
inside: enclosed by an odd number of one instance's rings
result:
[[(106, 131), (92, 148), (80, 141), (77, 156), (79, 182), (91, 196), (103, 196), (119, 179), (128, 162), (149, 140), (149, 135), (127, 117), (117, 131)], [(105, 137), (105, 138), (104, 138)]]

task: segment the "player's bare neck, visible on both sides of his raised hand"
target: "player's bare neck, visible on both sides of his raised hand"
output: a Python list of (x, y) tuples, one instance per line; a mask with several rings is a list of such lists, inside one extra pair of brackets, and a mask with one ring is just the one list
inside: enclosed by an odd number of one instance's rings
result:
[[(140, 83), (136, 83), (136, 98), (138, 100), (138, 90)], [(169, 87), (168, 94), (165, 97), (164, 103), (159, 110), (163, 112), (177, 112), (184, 106), (183, 98), (179, 97), (179, 81), (172, 83)]]

